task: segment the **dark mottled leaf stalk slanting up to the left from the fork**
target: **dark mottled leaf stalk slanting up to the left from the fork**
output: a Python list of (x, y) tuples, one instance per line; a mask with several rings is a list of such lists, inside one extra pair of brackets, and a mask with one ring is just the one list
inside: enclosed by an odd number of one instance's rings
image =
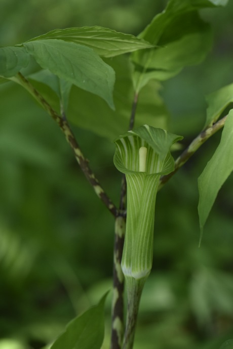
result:
[(72, 130), (67, 122), (67, 120), (64, 117), (61, 117), (51, 106), (50, 104), (44, 99), (44, 97), (34, 89), (32, 84), (21, 74), (18, 73), (16, 75), (16, 82), (19, 82), (34, 98), (35, 100), (42, 105), (42, 107), (52, 116), (52, 118), (57, 122), (60, 129), (65, 135), (65, 138), (67, 142), (69, 143), (70, 147), (72, 148), (74, 152), (75, 159), (79, 163), (82, 171), (84, 172), (87, 180), (92, 185), (95, 193), (97, 196), (102, 200), (104, 205), (107, 207), (107, 209), (115, 216), (117, 217), (119, 215), (117, 207), (112, 203), (110, 198), (107, 196), (103, 188), (101, 187), (98, 179), (96, 178), (95, 174), (91, 170), (89, 166), (89, 161), (86, 159), (80, 149), (79, 144), (77, 143)]

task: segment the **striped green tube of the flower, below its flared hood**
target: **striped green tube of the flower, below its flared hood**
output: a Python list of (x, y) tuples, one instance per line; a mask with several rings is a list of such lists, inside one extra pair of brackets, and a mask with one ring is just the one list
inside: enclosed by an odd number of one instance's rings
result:
[(122, 269), (125, 276), (147, 277), (152, 267), (153, 226), (160, 174), (126, 174), (128, 209)]

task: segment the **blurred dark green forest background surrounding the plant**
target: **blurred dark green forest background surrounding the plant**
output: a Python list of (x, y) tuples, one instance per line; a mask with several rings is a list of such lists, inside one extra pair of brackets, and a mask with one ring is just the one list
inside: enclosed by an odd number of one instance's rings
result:
[[(55, 28), (101, 25), (137, 35), (167, 1), (1, 0), (0, 46)], [(233, 82), (233, 3), (203, 11), (206, 61), (166, 81), (169, 130), (184, 145), (205, 120), (204, 95)], [(113, 217), (95, 196), (53, 120), (19, 86), (0, 86), (0, 349), (39, 349), (111, 287)], [(74, 132), (118, 204), (114, 146)], [(219, 349), (233, 338), (233, 177), (221, 189), (198, 248), (197, 178), (220, 133), (158, 194), (153, 270), (135, 349)], [(176, 154), (175, 154), (176, 155)], [(106, 306), (109, 341), (110, 296)]]

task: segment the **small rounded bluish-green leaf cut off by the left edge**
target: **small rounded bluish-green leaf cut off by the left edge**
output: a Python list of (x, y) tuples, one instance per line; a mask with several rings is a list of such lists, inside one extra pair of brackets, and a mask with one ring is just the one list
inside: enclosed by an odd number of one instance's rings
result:
[(0, 75), (11, 77), (16, 75), (29, 63), (30, 56), (23, 47), (0, 48)]

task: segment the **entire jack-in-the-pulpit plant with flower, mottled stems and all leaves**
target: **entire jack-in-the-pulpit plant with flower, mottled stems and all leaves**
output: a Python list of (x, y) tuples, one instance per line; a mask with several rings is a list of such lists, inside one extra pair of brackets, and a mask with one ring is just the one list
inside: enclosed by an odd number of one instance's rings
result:
[[(22, 85), (58, 123), (95, 193), (115, 217), (112, 349), (133, 347), (140, 295), (152, 265), (157, 191), (224, 126), (221, 142), (199, 179), (203, 230), (216, 195), (233, 169), (232, 112), (219, 119), (232, 102), (232, 85), (208, 97), (205, 126), (176, 161), (170, 148), (181, 137), (161, 129), (167, 129), (167, 110), (157, 93), (160, 81), (175, 76), (185, 66), (200, 63), (209, 52), (210, 27), (198, 11), (224, 5), (226, 1), (171, 0), (138, 37), (102, 27), (70, 28), (54, 30), (0, 51), (1, 83), (12, 80)], [(122, 57), (129, 53), (132, 54)], [(119, 207), (91, 170), (69, 121), (111, 140), (124, 134), (116, 141), (114, 157), (115, 166), (126, 174)], [(147, 155), (143, 159), (139, 150), (145, 148)], [(128, 315), (122, 344), (124, 280)], [(104, 299), (74, 319), (52, 348), (100, 348)]]

